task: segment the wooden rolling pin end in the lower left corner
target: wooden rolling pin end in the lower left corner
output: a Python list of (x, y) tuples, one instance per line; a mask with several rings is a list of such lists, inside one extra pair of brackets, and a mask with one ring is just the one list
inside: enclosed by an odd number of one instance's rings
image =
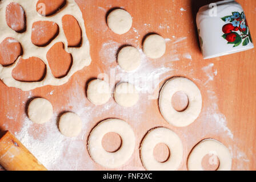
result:
[(0, 165), (8, 171), (47, 170), (9, 131), (0, 134)]

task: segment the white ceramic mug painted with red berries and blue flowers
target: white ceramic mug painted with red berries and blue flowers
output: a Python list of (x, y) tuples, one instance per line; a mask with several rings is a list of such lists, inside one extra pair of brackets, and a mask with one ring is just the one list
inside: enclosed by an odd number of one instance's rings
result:
[(234, 0), (201, 7), (197, 28), (204, 59), (254, 48), (245, 13)]

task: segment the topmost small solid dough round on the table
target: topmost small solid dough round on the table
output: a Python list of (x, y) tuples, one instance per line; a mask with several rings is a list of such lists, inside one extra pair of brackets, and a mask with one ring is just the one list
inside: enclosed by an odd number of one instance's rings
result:
[(107, 16), (107, 26), (109, 26), (115, 34), (125, 34), (130, 30), (132, 24), (133, 18), (131, 18), (131, 15), (123, 9), (113, 10)]

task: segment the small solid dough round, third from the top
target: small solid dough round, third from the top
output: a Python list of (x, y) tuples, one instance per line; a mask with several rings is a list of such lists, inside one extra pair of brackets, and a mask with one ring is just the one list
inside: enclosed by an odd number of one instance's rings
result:
[(126, 46), (118, 53), (119, 66), (127, 72), (134, 71), (141, 65), (141, 54), (133, 46)]

